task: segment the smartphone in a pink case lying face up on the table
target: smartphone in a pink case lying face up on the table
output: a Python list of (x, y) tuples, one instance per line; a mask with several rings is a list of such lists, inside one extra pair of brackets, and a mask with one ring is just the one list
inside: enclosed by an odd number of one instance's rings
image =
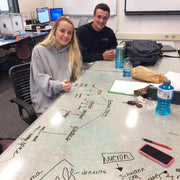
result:
[(174, 161), (173, 156), (171, 156), (149, 144), (144, 144), (139, 149), (139, 152), (141, 154), (143, 154), (144, 156), (147, 156), (148, 158), (150, 158), (166, 167), (168, 167)]

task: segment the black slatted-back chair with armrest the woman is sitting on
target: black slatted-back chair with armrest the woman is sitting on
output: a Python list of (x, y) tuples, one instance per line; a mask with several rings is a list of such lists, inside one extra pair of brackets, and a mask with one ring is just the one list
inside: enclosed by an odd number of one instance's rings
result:
[(10, 102), (18, 105), (21, 119), (31, 124), (36, 120), (37, 115), (30, 96), (30, 62), (11, 67), (9, 77), (16, 94)]

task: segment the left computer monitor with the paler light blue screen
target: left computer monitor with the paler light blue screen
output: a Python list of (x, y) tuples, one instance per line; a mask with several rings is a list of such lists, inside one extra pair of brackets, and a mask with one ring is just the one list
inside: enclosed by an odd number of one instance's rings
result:
[(37, 13), (37, 18), (41, 24), (49, 23), (51, 21), (49, 15), (49, 8), (47, 7), (40, 9), (37, 8), (36, 13)]

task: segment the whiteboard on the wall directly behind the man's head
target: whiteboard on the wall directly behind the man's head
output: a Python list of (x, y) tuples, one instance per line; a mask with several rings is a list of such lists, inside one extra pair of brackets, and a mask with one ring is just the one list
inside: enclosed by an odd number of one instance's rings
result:
[(110, 7), (110, 16), (117, 14), (117, 0), (54, 0), (54, 7), (62, 7), (64, 15), (92, 16), (95, 6), (99, 3)]

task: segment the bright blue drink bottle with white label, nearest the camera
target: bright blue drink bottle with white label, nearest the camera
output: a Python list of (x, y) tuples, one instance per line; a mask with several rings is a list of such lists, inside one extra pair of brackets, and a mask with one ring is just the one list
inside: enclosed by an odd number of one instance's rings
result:
[(170, 105), (174, 95), (174, 87), (171, 81), (165, 79), (157, 91), (156, 113), (159, 115), (169, 115), (171, 113)]

